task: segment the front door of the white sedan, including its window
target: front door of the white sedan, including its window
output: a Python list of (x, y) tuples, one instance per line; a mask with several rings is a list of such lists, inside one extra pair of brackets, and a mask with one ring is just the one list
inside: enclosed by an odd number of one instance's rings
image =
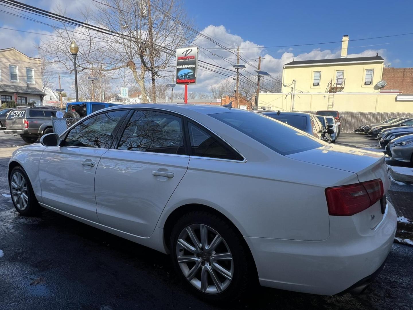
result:
[(127, 114), (128, 110), (117, 110), (82, 120), (65, 134), (60, 146), (43, 151), (39, 163), (43, 203), (98, 222), (96, 167)]

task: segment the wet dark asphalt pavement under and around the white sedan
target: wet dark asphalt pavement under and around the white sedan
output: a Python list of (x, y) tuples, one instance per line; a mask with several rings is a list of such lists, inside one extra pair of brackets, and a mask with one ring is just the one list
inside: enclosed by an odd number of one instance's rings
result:
[(259, 287), (242, 301), (204, 303), (180, 284), (168, 255), (48, 210), (20, 216), (7, 197), (6, 174), (11, 152), (23, 144), (0, 134), (1, 310), (412, 309), (413, 247), (396, 243), (361, 296)]

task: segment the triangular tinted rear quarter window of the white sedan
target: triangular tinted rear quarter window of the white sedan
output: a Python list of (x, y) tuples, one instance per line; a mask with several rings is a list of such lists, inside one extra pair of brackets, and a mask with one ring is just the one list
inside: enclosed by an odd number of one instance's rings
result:
[(223, 141), (213, 137), (204, 129), (188, 123), (192, 155), (222, 159), (243, 160), (243, 158)]

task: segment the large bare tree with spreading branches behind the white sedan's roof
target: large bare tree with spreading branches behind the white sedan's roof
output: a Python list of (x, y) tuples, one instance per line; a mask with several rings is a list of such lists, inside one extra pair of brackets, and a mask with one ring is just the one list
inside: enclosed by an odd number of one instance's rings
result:
[[(147, 3), (142, 0), (95, 2), (95, 9), (85, 10), (83, 19), (100, 21), (98, 26), (114, 34), (83, 28), (73, 32), (74, 29), (63, 23), (55, 29), (57, 37), (42, 42), (40, 50), (71, 72), (73, 60), (68, 46), (74, 39), (79, 45), (79, 72), (116, 72), (128, 68), (142, 91), (142, 100), (147, 102), (145, 80), (170, 76), (173, 72), (174, 53), (167, 49), (176, 50), (193, 39), (188, 29), (171, 18), (178, 17), (184, 24), (191, 24), (182, 0), (151, 0), (150, 3), (148, 14)], [(64, 12), (59, 13), (64, 15)]]

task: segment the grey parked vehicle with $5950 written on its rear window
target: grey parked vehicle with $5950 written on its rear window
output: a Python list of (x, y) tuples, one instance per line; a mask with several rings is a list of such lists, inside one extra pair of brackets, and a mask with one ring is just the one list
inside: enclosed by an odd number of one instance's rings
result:
[(23, 107), (15, 108), (6, 118), (5, 134), (20, 135), (26, 143), (35, 143), (45, 134), (53, 132), (52, 116), (56, 116), (59, 108)]

